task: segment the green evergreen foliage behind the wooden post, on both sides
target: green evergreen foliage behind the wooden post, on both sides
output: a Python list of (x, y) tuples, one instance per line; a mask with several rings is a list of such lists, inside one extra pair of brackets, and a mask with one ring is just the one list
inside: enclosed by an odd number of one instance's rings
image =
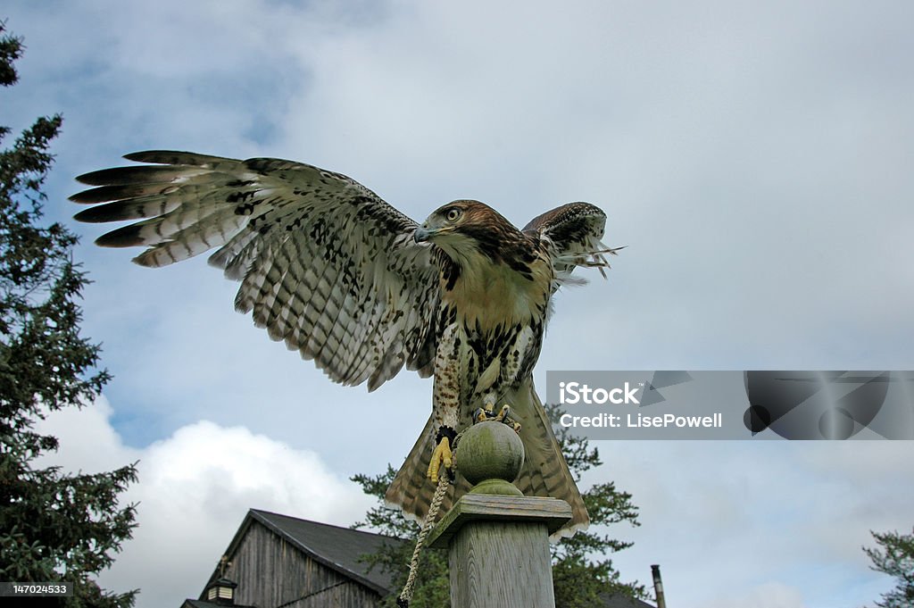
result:
[[(550, 415), (555, 416), (554, 407), (546, 408)], [(591, 448), (586, 439), (572, 435), (565, 428), (558, 428), (556, 431), (558, 443), (576, 481), (579, 481), (580, 475), (584, 472), (602, 464), (597, 448)], [(403, 517), (399, 509), (384, 506), (384, 493), (395, 475), (397, 472), (388, 464), (388, 470), (380, 475), (352, 477), (367, 495), (376, 496), (380, 501), (380, 505), (368, 510), (365, 521), (357, 523), (355, 527), (373, 528), (381, 534), (399, 539), (390, 542), (376, 554), (366, 557), (372, 567), (393, 574), (396, 591), (385, 598), (383, 603), (390, 608), (397, 605), (397, 596), (406, 582), (413, 543), (420, 530), (420, 526)], [(639, 526), (638, 507), (632, 504), (632, 495), (617, 490), (613, 483), (608, 483), (593, 485), (582, 496), (590, 513), (590, 528), (551, 546), (552, 583), (556, 606), (600, 606), (603, 603), (602, 598), (608, 595), (646, 597), (643, 585), (637, 581), (620, 580), (619, 571), (613, 568), (612, 560), (608, 557), (611, 553), (631, 547), (632, 543), (612, 539), (609, 534), (601, 533), (598, 529), (623, 522)], [(450, 605), (447, 565), (448, 556), (443, 549), (423, 549), (410, 608), (439, 608)]]

